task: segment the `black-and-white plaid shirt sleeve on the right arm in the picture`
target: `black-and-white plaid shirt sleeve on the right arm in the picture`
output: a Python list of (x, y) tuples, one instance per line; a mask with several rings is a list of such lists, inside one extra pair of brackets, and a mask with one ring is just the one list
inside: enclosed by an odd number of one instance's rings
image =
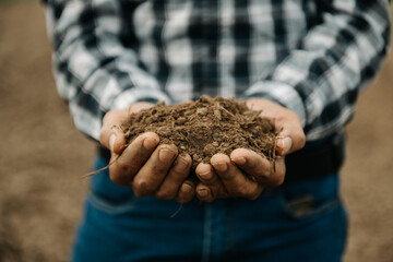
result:
[[(353, 118), (358, 94), (389, 50), (389, 2), (321, 1), (311, 26), (272, 73), (248, 96), (264, 96), (296, 111), (308, 140), (340, 131)], [(290, 19), (277, 23), (290, 32)]]

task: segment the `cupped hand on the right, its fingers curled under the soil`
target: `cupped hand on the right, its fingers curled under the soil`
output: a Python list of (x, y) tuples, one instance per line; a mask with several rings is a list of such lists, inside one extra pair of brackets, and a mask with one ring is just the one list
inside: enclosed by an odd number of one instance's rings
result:
[[(221, 198), (254, 200), (265, 187), (278, 187), (285, 178), (285, 155), (305, 146), (306, 136), (299, 117), (291, 110), (264, 98), (246, 102), (261, 117), (272, 120), (279, 132), (276, 141), (277, 158), (271, 163), (253, 151), (237, 148), (229, 156), (216, 154), (209, 164), (199, 164), (196, 196), (204, 202)], [(274, 165), (274, 166), (273, 166)]]

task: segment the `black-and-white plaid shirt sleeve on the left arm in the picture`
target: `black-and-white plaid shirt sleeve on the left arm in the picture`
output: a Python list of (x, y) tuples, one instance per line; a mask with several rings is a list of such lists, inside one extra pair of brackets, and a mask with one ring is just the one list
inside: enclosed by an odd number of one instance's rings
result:
[(120, 5), (116, 0), (49, 0), (46, 4), (58, 92), (69, 102), (83, 133), (98, 140), (109, 110), (136, 102), (171, 103), (143, 70), (135, 51), (124, 46), (132, 33), (123, 13), (133, 10), (132, 1)]

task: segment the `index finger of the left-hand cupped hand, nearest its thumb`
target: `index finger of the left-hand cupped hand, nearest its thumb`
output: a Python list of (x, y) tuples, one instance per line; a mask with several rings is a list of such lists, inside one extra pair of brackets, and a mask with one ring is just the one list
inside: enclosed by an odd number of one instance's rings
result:
[(117, 184), (130, 184), (133, 177), (148, 159), (159, 142), (156, 133), (139, 135), (116, 159), (112, 154), (109, 165), (110, 179)]

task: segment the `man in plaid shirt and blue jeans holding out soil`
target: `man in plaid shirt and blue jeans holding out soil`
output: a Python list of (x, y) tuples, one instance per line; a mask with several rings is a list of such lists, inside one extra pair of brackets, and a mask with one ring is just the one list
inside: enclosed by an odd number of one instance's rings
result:
[[(59, 93), (103, 145), (96, 168), (121, 154), (92, 179), (73, 261), (341, 260), (343, 128), (386, 53), (388, 1), (48, 0), (47, 15)], [(275, 168), (238, 148), (194, 184), (190, 156), (155, 133), (123, 150), (129, 112), (203, 94), (273, 120)]]

